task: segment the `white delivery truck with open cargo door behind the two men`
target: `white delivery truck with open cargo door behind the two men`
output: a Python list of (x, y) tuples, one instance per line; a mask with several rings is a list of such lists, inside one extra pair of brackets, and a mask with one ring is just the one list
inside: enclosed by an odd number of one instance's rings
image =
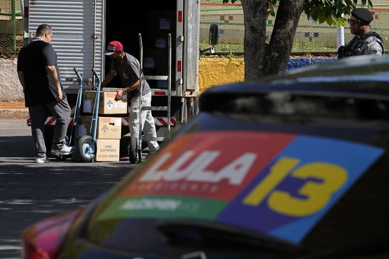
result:
[[(25, 44), (35, 36), (40, 24), (46, 23), (53, 28), (52, 46), (58, 54), (62, 85), (70, 106), (74, 107), (79, 88), (73, 67), (93, 86), (92, 67), (102, 78), (109, 72), (109, 59), (103, 52), (112, 40), (122, 42), (124, 51), (139, 59), (138, 34), (141, 33), (143, 73), (168, 75), (167, 36), (170, 33), (171, 116), (167, 121), (166, 111), (153, 111), (158, 132), (163, 132), (168, 123), (174, 127), (187, 122), (193, 115), (191, 100), (197, 110), (200, 1), (22, 0), (22, 8)], [(214, 30), (213, 35), (216, 34), (218, 31)], [(217, 41), (217, 37), (213, 40)], [(148, 83), (151, 106), (166, 106), (167, 80)], [(122, 88), (118, 76), (107, 85), (109, 87)], [(55, 117), (49, 117), (45, 127), (47, 139), (52, 135), (54, 124)], [(128, 132), (127, 114), (122, 116), (122, 136)]]

